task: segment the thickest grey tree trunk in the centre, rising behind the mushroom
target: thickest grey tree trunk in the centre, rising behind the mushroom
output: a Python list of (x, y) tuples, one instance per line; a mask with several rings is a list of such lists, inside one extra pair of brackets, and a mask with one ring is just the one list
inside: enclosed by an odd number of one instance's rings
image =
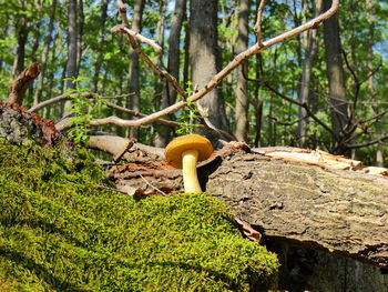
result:
[[(191, 1), (190, 57), (193, 83), (206, 85), (217, 73), (217, 2)], [(218, 129), (228, 130), (224, 100), (217, 89), (198, 101), (207, 110), (210, 121)]]

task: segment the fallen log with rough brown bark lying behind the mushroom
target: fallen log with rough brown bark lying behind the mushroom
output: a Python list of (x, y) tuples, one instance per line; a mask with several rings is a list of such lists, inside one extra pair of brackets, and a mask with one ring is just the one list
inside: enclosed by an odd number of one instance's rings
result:
[[(265, 236), (388, 268), (388, 178), (222, 150), (203, 189)], [(180, 192), (180, 170), (143, 161), (110, 171), (132, 194)]]

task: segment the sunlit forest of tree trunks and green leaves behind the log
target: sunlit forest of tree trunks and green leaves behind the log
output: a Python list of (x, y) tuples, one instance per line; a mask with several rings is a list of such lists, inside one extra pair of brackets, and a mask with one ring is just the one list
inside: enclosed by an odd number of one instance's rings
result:
[[(162, 51), (140, 44), (186, 94), (203, 88), (233, 58), (256, 42), (261, 1), (124, 1), (133, 31)], [(267, 1), (264, 40), (325, 11), (330, 0)], [(201, 100), (216, 128), (255, 147), (295, 145), (388, 165), (388, 4), (341, 0), (336, 17), (244, 62)], [(23, 100), (31, 108), (71, 89), (100, 95), (134, 95), (110, 102), (150, 114), (182, 100), (130, 49), (114, 0), (0, 0), (0, 97), (30, 63), (42, 72)], [(78, 82), (69, 78), (79, 77)], [(82, 78), (80, 78), (82, 77)], [(59, 121), (67, 103), (39, 113)], [(178, 120), (182, 111), (164, 117)], [(94, 118), (135, 119), (99, 105)], [(165, 145), (176, 128), (146, 124), (100, 128), (142, 143)], [(386, 159), (384, 159), (386, 158)]]

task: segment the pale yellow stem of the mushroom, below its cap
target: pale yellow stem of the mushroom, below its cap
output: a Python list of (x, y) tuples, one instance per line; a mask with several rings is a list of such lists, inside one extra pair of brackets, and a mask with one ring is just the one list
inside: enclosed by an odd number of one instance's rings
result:
[(197, 150), (186, 150), (182, 153), (183, 184), (186, 193), (201, 193), (201, 185), (196, 173)]

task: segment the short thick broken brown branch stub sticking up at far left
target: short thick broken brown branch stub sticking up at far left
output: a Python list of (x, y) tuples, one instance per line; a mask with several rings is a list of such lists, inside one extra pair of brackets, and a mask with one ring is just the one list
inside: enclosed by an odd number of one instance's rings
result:
[(9, 87), (8, 102), (18, 103), (23, 102), (23, 97), (27, 89), (31, 85), (32, 81), (39, 75), (42, 68), (39, 63), (34, 62), (24, 69)]

